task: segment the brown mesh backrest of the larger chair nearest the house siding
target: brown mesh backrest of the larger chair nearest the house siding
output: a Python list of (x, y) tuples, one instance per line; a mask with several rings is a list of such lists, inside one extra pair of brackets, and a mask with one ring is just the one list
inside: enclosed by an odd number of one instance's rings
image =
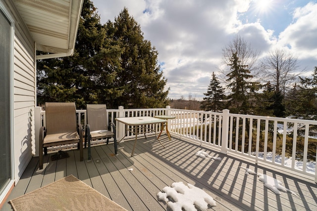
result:
[(76, 105), (71, 103), (45, 103), (46, 133), (77, 131)]

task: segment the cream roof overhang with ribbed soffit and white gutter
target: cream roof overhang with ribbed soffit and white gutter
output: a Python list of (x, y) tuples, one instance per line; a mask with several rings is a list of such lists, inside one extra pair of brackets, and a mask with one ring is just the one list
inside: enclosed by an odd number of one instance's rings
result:
[(83, 0), (13, 1), (36, 42), (36, 50), (50, 53), (37, 59), (73, 54)]

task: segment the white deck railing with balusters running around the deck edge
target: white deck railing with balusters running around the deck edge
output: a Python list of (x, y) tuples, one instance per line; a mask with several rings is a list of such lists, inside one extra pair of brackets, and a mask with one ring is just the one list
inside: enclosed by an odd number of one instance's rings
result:
[[(35, 124), (35, 132), (45, 126), (45, 111), (36, 108), (35, 115), (42, 121)], [(77, 110), (78, 122), (86, 123), (86, 110)], [(171, 134), (201, 144), (217, 148), (222, 153), (234, 153), (241, 157), (253, 159), (256, 163), (264, 162), (278, 168), (293, 170), (315, 177), (317, 182), (317, 121), (274, 118), (252, 115), (171, 109), (169, 106), (159, 109), (107, 109), (110, 122), (116, 124), (117, 139), (125, 135), (123, 124), (115, 122), (117, 117), (137, 117), (171, 115), (175, 119), (168, 120)], [(160, 125), (156, 126), (157, 131)], [(315, 127), (315, 128), (314, 128)], [(312, 129), (314, 128), (314, 129)], [(315, 132), (314, 136), (313, 133)], [(154, 134), (149, 131), (149, 135)], [(143, 134), (142, 134), (143, 135)], [(127, 134), (126, 138), (134, 138)], [(36, 134), (36, 139), (38, 137)], [(96, 143), (103, 143), (99, 140)], [(36, 144), (37, 145), (37, 144)], [(312, 149), (311, 146), (315, 146)], [(69, 146), (56, 147), (53, 150)], [(295, 158), (295, 159), (290, 159)], [(310, 169), (314, 168), (314, 169)]]

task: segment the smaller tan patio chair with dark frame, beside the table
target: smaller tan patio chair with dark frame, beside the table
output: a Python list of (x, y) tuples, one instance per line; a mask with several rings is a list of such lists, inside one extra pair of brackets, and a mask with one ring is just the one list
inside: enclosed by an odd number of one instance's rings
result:
[[(112, 127), (112, 131), (111, 131)], [(91, 159), (90, 142), (97, 139), (113, 138), (114, 154), (117, 154), (117, 139), (115, 125), (113, 122), (108, 125), (108, 118), (105, 104), (87, 104), (87, 125), (85, 127), (85, 148), (88, 142), (88, 160)], [(112, 142), (112, 141), (111, 141)]]

